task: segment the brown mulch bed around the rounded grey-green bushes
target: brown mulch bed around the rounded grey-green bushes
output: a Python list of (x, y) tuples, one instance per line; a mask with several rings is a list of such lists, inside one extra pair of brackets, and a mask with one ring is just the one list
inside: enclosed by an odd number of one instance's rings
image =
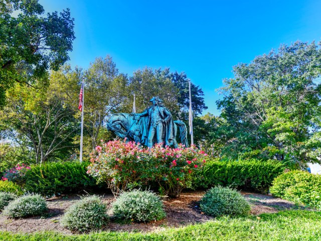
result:
[[(150, 232), (165, 229), (166, 227), (179, 227), (194, 223), (206, 222), (213, 217), (205, 215), (199, 208), (199, 201), (204, 195), (204, 191), (186, 191), (179, 198), (163, 198), (167, 217), (161, 221), (149, 223), (121, 224), (109, 222), (104, 230), (112, 231), (141, 231)], [(251, 214), (274, 213), (280, 210), (302, 208), (281, 198), (269, 195), (242, 192), (247, 201), (251, 204)], [(48, 199), (49, 211), (41, 217), (29, 217), (13, 219), (0, 214), (0, 231), (12, 232), (35, 232), (35, 231), (59, 231), (66, 234), (72, 232), (60, 225), (60, 219), (66, 209), (79, 200), (80, 197), (63, 196)], [(115, 200), (110, 194), (104, 195), (103, 202), (110, 209)], [(111, 213), (109, 213), (111, 214)]]

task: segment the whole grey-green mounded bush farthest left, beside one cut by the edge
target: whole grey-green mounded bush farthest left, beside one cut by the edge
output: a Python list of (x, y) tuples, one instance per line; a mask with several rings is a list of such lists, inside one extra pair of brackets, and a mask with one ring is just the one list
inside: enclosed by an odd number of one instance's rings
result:
[(41, 215), (47, 209), (46, 200), (42, 196), (29, 194), (10, 202), (3, 213), (10, 217), (28, 217)]

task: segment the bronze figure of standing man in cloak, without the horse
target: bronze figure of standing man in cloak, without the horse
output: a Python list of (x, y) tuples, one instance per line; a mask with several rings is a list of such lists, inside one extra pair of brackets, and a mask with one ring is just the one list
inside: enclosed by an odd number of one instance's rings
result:
[(142, 113), (132, 113), (134, 118), (142, 119), (141, 142), (147, 147), (152, 147), (155, 143), (164, 143), (165, 146), (173, 145), (174, 122), (171, 112), (162, 104), (162, 100), (157, 96), (150, 100), (152, 105), (147, 107)]

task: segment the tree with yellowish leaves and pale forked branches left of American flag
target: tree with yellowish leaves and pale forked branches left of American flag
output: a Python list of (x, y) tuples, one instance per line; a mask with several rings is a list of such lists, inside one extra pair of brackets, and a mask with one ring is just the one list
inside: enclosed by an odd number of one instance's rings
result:
[(8, 90), (10, 100), (0, 111), (6, 123), (6, 137), (18, 144), (21, 152), (32, 150), (30, 159), (42, 163), (50, 157), (65, 159), (72, 154), (73, 138), (78, 128), (73, 108), (57, 91), (57, 82), (37, 88), (21, 86)]

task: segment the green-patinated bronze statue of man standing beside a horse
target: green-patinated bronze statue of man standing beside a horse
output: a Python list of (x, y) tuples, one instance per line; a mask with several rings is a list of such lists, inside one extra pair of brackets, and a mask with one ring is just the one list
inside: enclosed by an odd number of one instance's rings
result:
[(180, 140), (188, 147), (187, 128), (182, 121), (173, 121), (172, 114), (157, 96), (150, 99), (142, 113), (113, 114), (107, 123), (107, 129), (120, 138), (134, 141), (151, 148), (155, 143), (177, 147), (177, 127), (180, 129)]

